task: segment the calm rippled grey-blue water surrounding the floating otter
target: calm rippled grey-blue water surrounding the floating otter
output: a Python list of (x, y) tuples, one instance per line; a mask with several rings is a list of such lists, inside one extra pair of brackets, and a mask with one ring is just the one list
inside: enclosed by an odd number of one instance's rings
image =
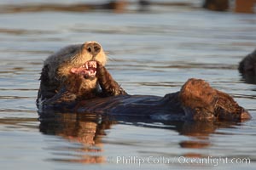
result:
[[(256, 87), (236, 69), (256, 47), (255, 15), (159, 9), (0, 14), (1, 169), (256, 168)], [(44, 59), (90, 40), (108, 51), (108, 70), (129, 94), (162, 96), (190, 77), (202, 78), (235, 97), (253, 119), (204, 124), (66, 114), (39, 122)], [(218, 161), (226, 158), (238, 163)], [(239, 163), (243, 158), (250, 163)]]

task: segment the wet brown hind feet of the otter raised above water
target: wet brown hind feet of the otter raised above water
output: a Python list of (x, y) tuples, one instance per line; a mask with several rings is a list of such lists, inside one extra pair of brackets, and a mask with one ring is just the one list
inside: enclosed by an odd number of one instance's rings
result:
[(200, 79), (189, 79), (179, 96), (187, 116), (195, 120), (237, 120), (250, 117), (229, 94), (211, 88), (209, 83)]

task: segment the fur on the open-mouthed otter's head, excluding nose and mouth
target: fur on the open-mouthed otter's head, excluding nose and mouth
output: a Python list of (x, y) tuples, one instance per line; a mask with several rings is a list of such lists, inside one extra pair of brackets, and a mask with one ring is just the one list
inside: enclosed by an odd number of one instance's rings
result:
[[(90, 44), (97, 44), (100, 46), (97, 54), (90, 53), (90, 50), (88, 50), (88, 45)], [(73, 67), (80, 67), (90, 60), (96, 60), (102, 65), (106, 65), (107, 63), (107, 56), (104, 53), (102, 46), (97, 42), (85, 42), (84, 44), (70, 45), (61, 48), (55, 54), (50, 55), (44, 61), (44, 68), (41, 75), (41, 93), (48, 93), (49, 91), (53, 93), (54, 88), (55, 91), (58, 91), (63, 85), (62, 83), (68, 83), (68, 79), (73, 76), (73, 73), (71, 72)], [(47, 82), (43, 82), (44, 77), (46, 77)], [(84, 78), (81, 83), (81, 88), (87, 91), (97, 88), (97, 78)]]

